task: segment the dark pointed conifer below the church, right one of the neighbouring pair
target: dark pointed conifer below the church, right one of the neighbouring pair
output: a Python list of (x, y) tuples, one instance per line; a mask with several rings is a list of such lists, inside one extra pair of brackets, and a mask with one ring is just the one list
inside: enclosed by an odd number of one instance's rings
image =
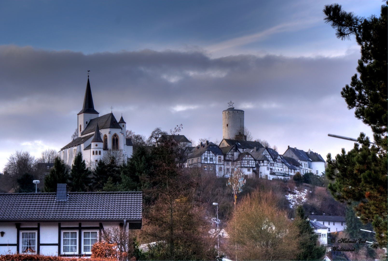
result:
[(85, 160), (82, 159), (82, 153), (79, 151), (71, 165), (70, 186), (73, 191), (87, 191), (88, 185), (91, 182), (89, 175), (92, 172), (86, 167)]

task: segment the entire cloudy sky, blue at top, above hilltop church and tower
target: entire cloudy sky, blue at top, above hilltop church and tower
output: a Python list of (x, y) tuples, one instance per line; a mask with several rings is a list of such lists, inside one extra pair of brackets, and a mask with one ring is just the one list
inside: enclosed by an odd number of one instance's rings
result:
[[(381, 0), (336, 1), (379, 16)], [(245, 111), (253, 137), (326, 154), (371, 131), (341, 88), (359, 47), (338, 40), (321, 1), (1, 1), (0, 171), (71, 141), (87, 70), (95, 109), (149, 135), (222, 139), (222, 110)]]

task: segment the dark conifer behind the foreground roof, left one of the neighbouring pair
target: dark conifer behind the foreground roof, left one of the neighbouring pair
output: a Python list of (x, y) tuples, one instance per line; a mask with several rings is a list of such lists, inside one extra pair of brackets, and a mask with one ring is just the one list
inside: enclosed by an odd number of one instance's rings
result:
[(69, 170), (61, 158), (56, 157), (50, 173), (45, 176), (45, 192), (56, 192), (57, 184), (68, 184)]

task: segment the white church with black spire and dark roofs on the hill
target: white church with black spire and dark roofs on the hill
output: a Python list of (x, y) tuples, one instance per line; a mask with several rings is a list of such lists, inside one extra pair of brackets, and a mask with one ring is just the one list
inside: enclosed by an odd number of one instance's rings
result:
[(78, 138), (61, 148), (59, 157), (68, 165), (73, 164), (73, 159), (78, 152), (90, 165), (95, 164), (104, 153), (123, 153), (123, 158), (132, 156), (132, 141), (125, 138), (126, 122), (121, 116), (117, 121), (113, 113), (99, 116), (94, 109), (90, 82), (86, 85), (85, 99), (82, 110), (77, 114)]

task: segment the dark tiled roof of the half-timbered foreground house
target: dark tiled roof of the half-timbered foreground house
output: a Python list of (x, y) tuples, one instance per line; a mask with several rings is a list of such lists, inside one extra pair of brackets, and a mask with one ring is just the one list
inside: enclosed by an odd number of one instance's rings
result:
[(123, 220), (142, 218), (142, 192), (0, 193), (0, 221)]

